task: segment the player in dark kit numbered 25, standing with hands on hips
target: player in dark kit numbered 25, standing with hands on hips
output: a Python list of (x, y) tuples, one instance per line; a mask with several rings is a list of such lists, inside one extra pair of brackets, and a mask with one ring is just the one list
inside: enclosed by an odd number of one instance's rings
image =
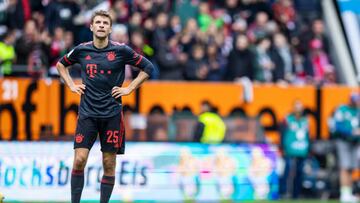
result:
[[(81, 95), (74, 139), (74, 163), (71, 175), (71, 202), (80, 202), (84, 186), (84, 168), (89, 151), (99, 135), (104, 175), (100, 202), (108, 202), (114, 187), (116, 155), (125, 150), (121, 97), (138, 88), (153, 71), (153, 65), (124, 44), (109, 40), (112, 20), (108, 12), (96, 11), (91, 18), (93, 41), (82, 43), (66, 54), (57, 69), (66, 85)], [(75, 84), (67, 67), (81, 65), (82, 84)], [(141, 69), (139, 75), (122, 87), (125, 64)]]

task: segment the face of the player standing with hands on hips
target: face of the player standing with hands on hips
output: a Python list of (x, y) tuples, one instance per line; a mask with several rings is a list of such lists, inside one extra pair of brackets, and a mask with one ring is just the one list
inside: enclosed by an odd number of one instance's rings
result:
[(107, 38), (111, 33), (110, 19), (105, 16), (95, 16), (93, 23), (90, 25), (90, 30), (96, 38)]

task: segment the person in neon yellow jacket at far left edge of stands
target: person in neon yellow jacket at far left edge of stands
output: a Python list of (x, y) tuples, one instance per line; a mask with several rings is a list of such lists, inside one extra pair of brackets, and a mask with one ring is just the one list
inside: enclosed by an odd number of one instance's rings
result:
[(15, 30), (9, 30), (0, 41), (0, 76), (12, 74), (12, 64), (16, 60)]

